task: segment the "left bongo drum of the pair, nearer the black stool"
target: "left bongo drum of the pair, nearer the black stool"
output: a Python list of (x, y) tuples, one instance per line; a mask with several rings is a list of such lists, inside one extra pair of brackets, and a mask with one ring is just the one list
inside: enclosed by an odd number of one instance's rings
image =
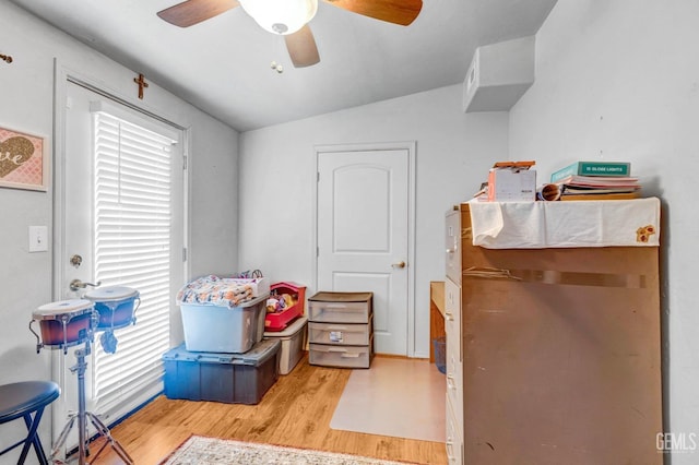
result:
[[(29, 331), (37, 339), (37, 351), (42, 347), (62, 348), (84, 343), (93, 333), (94, 305), (86, 299), (60, 300), (46, 303), (34, 311), (29, 322)], [(39, 335), (32, 329), (38, 321)]]

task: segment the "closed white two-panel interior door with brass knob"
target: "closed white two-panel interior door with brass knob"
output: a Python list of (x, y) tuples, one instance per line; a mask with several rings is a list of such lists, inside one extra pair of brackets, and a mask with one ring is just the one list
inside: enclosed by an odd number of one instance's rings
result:
[(318, 290), (374, 293), (378, 354), (408, 355), (411, 153), (318, 152)]

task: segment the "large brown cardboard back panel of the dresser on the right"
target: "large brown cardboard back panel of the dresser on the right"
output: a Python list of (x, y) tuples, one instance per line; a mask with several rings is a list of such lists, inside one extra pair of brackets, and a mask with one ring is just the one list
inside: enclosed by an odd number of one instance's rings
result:
[(662, 463), (657, 249), (462, 248), (466, 463)]

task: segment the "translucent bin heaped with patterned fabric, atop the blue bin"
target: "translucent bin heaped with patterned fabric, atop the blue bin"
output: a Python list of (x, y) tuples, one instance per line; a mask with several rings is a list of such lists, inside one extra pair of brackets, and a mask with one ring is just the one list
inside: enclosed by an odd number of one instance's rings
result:
[(262, 341), (266, 278), (203, 276), (177, 293), (185, 346), (191, 351), (241, 354)]

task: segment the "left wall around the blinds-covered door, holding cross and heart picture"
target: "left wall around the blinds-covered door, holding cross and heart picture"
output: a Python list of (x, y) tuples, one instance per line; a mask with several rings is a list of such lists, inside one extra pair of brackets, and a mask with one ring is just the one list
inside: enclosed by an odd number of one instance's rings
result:
[[(190, 267), (193, 274), (237, 269), (236, 131), (155, 83), (145, 91), (145, 99), (138, 100), (133, 83), (137, 72), (9, 2), (0, 2), (0, 53), (14, 59), (11, 64), (0, 61), (0, 126), (47, 136), (49, 156), (55, 58), (122, 98), (191, 128)], [(212, 200), (227, 211), (212, 208)], [(48, 252), (28, 253), (27, 228), (46, 225), (51, 230), (52, 201), (51, 189), (33, 192), (0, 188), (0, 384), (50, 379), (49, 353), (36, 354), (36, 339), (27, 325), (34, 310), (54, 300), (54, 246)], [(50, 448), (50, 425), (48, 414), (40, 429), (45, 448)], [(20, 440), (26, 430), (22, 421), (2, 425), (0, 429), (0, 450)], [(16, 456), (7, 454), (0, 463), (16, 462)]]

